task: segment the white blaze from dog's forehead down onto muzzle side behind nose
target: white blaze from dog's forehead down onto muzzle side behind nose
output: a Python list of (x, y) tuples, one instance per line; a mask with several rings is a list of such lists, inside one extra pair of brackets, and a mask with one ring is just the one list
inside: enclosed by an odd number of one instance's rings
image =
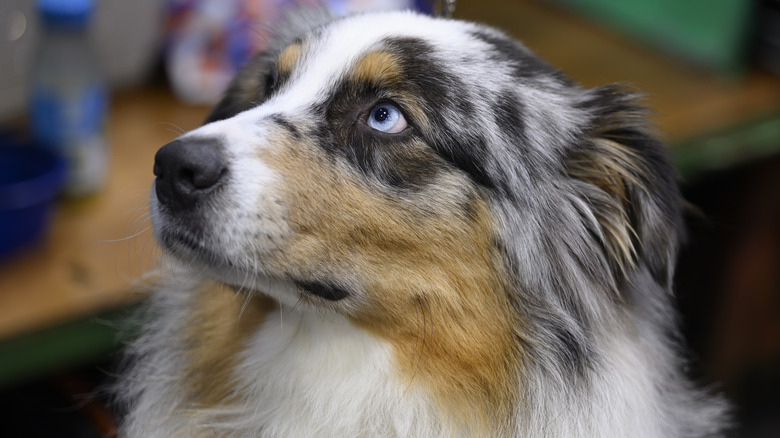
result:
[[(304, 36), (301, 55), (290, 78), (269, 100), (232, 118), (198, 128), (186, 136), (222, 139), (231, 165), (248, 166), (247, 172), (251, 168), (255, 184), (270, 183), (273, 172), (257, 159), (259, 151), (274, 147), (273, 134), (269, 132), (273, 122), (268, 120), (269, 116), (290, 117), (296, 124), (305, 124), (310, 118), (321, 119), (322, 114), (311, 114), (312, 106), (327, 101), (361, 57), (373, 50), (381, 50), (383, 41), (419, 39), (432, 48), (432, 61), (441, 61), (439, 67), (447, 69), (454, 77), (490, 89), (491, 77), (500, 75), (495, 68), (486, 67), (486, 63), (481, 62), (489, 55), (486, 53), (488, 44), (472, 33), (479, 29), (471, 23), (435, 19), (413, 12), (364, 14), (340, 19), (313, 35)], [(483, 69), (489, 69), (492, 74), (482, 74)], [(479, 106), (483, 102), (474, 104)], [(237, 160), (239, 157), (255, 159), (246, 163)], [(268, 178), (263, 178), (263, 175)]]

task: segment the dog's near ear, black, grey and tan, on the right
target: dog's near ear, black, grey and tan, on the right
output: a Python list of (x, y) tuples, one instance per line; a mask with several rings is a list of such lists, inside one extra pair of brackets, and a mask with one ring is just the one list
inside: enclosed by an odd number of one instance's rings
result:
[(682, 230), (681, 197), (664, 146), (636, 101), (617, 86), (585, 91), (579, 105), (591, 120), (566, 168), (613, 272), (625, 275), (644, 266), (669, 288)]

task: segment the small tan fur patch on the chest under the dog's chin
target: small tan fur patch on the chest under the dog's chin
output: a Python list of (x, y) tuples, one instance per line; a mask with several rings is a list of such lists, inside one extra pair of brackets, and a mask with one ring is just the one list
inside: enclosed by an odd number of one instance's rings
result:
[(261, 295), (239, 295), (216, 283), (195, 293), (184, 332), (187, 367), (180, 386), (189, 392), (193, 408), (214, 407), (235, 396), (238, 355), (277, 304)]

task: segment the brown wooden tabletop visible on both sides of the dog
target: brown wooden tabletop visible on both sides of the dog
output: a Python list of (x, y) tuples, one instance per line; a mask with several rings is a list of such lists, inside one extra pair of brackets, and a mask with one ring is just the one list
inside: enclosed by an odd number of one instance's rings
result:
[[(678, 162), (687, 156), (694, 170), (707, 167), (717, 144), (733, 144), (755, 123), (763, 127), (759, 143), (780, 146), (777, 77), (754, 72), (727, 81), (528, 0), (463, 1), (456, 15), (504, 28), (585, 86), (626, 82), (644, 90)], [(46, 242), (0, 262), (0, 385), (114, 348), (115, 327), (95, 315), (138, 302), (144, 284), (138, 279), (155, 266), (146, 215), (154, 153), (206, 113), (165, 89), (115, 96), (105, 191), (61, 204)], [(736, 154), (755, 155), (739, 148)]]

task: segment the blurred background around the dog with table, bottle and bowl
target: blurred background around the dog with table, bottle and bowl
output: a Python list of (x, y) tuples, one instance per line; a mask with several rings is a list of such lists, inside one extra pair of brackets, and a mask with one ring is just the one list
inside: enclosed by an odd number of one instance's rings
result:
[[(292, 3), (0, 2), (0, 435), (112, 436), (103, 388), (159, 257), (154, 153), (201, 123)], [(780, 436), (780, 0), (459, 0), (454, 16), (583, 86), (645, 93), (691, 204), (689, 371), (734, 402), (733, 436)]]

